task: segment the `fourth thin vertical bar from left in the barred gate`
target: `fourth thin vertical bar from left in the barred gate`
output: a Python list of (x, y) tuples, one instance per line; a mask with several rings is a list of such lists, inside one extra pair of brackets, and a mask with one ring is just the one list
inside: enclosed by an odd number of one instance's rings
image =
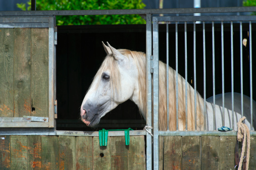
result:
[(196, 48), (195, 48), (195, 39), (196, 39), (196, 36), (195, 36), (195, 22), (194, 22), (194, 28), (193, 28), (193, 31), (194, 31), (194, 44), (193, 44), (193, 47), (194, 47), (194, 101), (195, 101), (195, 131), (197, 130), (197, 117), (196, 117)]

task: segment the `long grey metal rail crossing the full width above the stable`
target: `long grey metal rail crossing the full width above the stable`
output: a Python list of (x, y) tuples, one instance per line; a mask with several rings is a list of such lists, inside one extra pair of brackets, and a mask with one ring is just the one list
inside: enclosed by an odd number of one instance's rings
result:
[(2, 11), (0, 16), (59, 16), (59, 15), (129, 15), (129, 14), (192, 14), (254, 12), (256, 7), (132, 9), (132, 10), (52, 10), (52, 11)]

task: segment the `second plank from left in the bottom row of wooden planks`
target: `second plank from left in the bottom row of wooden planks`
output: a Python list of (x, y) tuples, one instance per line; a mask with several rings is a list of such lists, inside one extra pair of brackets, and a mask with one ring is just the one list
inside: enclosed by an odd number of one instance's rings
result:
[(27, 136), (11, 136), (11, 169), (28, 169)]

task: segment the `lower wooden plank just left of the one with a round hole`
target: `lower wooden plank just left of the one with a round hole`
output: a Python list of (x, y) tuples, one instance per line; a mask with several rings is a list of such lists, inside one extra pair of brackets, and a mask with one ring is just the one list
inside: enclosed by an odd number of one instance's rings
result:
[[(93, 137), (76, 137), (76, 169), (93, 169)], [(92, 147), (93, 146), (93, 147)], [(98, 160), (99, 158), (97, 158)], [(99, 169), (99, 168), (96, 168)]]

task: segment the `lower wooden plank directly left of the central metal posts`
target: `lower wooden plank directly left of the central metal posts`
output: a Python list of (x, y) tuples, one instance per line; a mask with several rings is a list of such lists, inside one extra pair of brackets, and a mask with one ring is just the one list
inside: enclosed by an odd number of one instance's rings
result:
[(146, 169), (145, 161), (145, 137), (130, 136), (130, 145), (128, 147), (128, 168)]

